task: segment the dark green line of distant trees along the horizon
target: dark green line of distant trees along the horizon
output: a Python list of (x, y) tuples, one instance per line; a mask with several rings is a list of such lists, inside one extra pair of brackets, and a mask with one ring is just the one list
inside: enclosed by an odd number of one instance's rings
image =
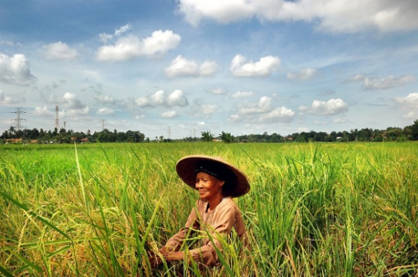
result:
[(0, 136), (0, 143), (144, 143), (144, 142), (171, 142), (171, 141), (222, 141), (224, 143), (284, 143), (284, 142), (332, 142), (332, 141), (418, 141), (418, 120), (414, 124), (399, 128), (388, 127), (387, 129), (351, 129), (342, 132), (300, 132), (281, 136), (280, 134), (248, 134), (233, 136), (230, 132), (222, 131), (215, 135), (208, 131), (201, 132), (201, 137), (186, 137), (183, 139), (164, 139), (164, 136), (151, 140), (139, 131), (113, 132), (103, 129), (101, 132), (91, 133), (74, 132), (72, 129), (64, 128), (45, 132), (43, 129), (23, 129), (16, 130), (10, 127)]

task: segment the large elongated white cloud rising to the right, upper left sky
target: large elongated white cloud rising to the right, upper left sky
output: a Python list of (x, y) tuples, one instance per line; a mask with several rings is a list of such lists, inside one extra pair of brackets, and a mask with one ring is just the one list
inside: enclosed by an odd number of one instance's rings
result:
[(173, 31), (154, 31), (144, 39), (134, 35), (119, 38), (114, 45), (104, 45), (98, 49), (98, 61), (129, 61), (140, 56), (162, 56), (178, 47), (181, 37)]

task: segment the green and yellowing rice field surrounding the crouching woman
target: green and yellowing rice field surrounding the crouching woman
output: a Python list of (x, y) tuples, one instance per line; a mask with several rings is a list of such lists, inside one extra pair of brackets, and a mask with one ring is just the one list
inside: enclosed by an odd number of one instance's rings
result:
[[(0, 276), (176, 276), (150, 269), (197, 199), (174, 166), (244, 171), (252, 250), (209, 276), (416, 276), (418, 144), (0, 145)], [(189, 242), (193, 247), (193, 241)], [(199, 271), (189, 273), (199, 276)]]

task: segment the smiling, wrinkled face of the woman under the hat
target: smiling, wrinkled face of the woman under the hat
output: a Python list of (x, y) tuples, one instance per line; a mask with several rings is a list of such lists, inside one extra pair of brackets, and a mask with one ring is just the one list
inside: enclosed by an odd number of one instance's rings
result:
[(201, 199), (212, 200), (219, 194), (222, 196), (223, 185), (224, 181), (218, 180), (208, 173), (199, 172), (196, 175), (196, 189), (199, 191)]

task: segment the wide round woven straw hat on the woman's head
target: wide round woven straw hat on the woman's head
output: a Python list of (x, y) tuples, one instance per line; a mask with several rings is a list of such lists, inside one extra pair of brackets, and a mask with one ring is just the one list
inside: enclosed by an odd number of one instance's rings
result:
[(242, 173), (242, 171), (232, 164), (229, 164), (229, 162), (225, 161), (221, 157), (206, 155), (189, 155), (178, 160), (176, 164), (177, 174), (189, 187), (196, 189), (196, 169), (201, 161), (215, 162), (225, 168), (228, 168), (229, 171), (233, 173), (234, 177), (231, 178), (230, 182), (228, 182), (229, 196), (240, 197), (248, 193), (250, 189), (249, 182), (247, 176)]

